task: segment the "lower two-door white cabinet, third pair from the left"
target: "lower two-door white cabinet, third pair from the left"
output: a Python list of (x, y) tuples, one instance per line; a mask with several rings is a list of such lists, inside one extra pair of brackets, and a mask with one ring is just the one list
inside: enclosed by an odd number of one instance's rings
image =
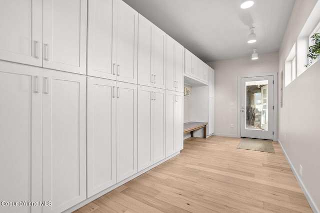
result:
[(138, 86), (138, 171), (165, 158), (165, 90)]

